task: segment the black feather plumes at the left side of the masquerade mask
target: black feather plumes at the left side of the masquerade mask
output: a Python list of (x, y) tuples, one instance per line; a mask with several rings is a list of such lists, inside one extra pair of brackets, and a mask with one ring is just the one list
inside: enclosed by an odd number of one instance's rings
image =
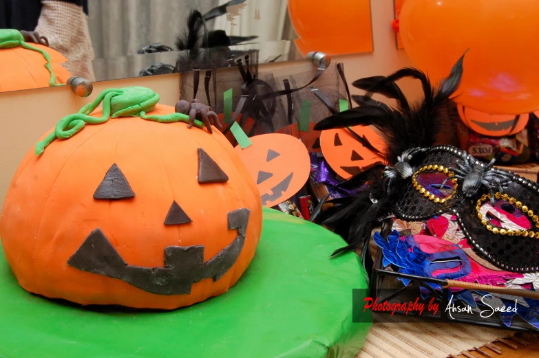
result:
[[(463, 73), (463, 58), (460, 58), (451, 70), (450, 75), (441, 81), (437, 89), (432, 87), (429, 78), (418, 69), (405, 68), (394, 74), (383, 77), (363, 78), (354, 82), (354, 86), (367, 91), (365, 96), (355, 96), (359, 107), (341, 113), (335, 113), (322, 120), (316, 130), (344, 128), (355, 125), (372, 125), (376, 127), (387, 144), (383, 153), (385, 164), (393, 166), (399, 155), (410, 148), (426, 148), (436, 143), (436, 136), (447, 121), (441, 115), (450, 98), (458, 89)], [(402, 95), (395, 83), (405, 77), (416, 78), (423, 86), (424, 98), (410, 107), (408, 100)], [(372, 93), (383, 94), (397, 100), (396, 108), (388, 107), (370, 98)], [(365, 178), (365, 174), (362, 179)], [(339, 201), (339, 205), (319, 214), (317, 223), (326, 225), (341, 235), (348, 245), (333, 254), (350, 249), (357, 249), (368, 243), (374, 227), (379, 219), (392, 212), (392, 204), (401, 195), (402, 190), (386, 192), (385, 183), (380, 172), (370, 171), (368, 184), (355, 197)], [(398, 184), (397, 184), (398, 185)]]

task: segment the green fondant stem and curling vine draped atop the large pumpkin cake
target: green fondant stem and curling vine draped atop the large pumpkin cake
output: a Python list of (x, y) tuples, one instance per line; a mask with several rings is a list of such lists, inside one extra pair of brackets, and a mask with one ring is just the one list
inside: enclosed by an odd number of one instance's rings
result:
[[(103, 102), (103, 116), (91, 117), (89, 114)], [(36, 155), (41, 155), (43, 150), (54, 139), (67, 139), (81, 131), (86, 124), (101, 124), (109, 118), (140, 117), (144, 120), (152, 120), (160, 123), (189, 122), (189, 115), (183, 113), (171, 113), (167, 115), (147, 115), (159, 102), (159, 95), (145, 87), (124, 87), (121, 89), (107, 89), (94, 100), (86, 104), (78, 113), (65, 116), (56, 124), (54, 131), (45, 139), (36, 144)], [(202, 128), (202, 122), (195, 120), (195, 126)]]

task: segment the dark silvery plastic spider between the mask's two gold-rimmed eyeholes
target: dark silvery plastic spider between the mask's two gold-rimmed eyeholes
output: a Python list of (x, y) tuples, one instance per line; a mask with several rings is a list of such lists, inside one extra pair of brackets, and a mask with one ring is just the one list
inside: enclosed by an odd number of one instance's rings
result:
[(494, 205), (494, 189), (503, 192), (503, 188), (507, 188), (507, 183), (513, 175), (509, 172), (498, 172), (492, 169), (496, 159), (492, 159), (486, 166), (477, 163), (466, 152), (463, 152), (462, 159), (462, 161), (456, 162), (458, 168), (448, 169), (454, 172), (454, 178), (463, 181), (463, 193), (465, 196), (472, 197), (484, 185), (489, 189), (490, 201)]

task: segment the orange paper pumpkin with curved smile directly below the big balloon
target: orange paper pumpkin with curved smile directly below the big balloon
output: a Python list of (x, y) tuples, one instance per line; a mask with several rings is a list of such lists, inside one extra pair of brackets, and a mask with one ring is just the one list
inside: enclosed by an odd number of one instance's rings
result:
[(521, 115), (489, 114), (463, 107), (460, 104), (457, 108), (458, 115), (468, 128), (489, 137), (506, 137), (519, 133), (526, 127), (529, 120), (528, 113)]

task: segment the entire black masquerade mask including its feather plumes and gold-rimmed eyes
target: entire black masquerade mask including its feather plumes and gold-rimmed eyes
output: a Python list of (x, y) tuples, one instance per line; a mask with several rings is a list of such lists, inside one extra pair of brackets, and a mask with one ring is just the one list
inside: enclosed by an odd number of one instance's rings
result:
[[(319, 223), (332, 227), (348, 242), (335, 251), (368, 243), (380, 219), (394, 215), (419, 221), (452, 212), (478, 256), (500, 269), (539, 271), (539, 186), (511, 172), (483, 164), (452, 146), (433, 146), (443, 128), (441, 111), (461, 82), (463, 58), (450, 76), (433, 89), (416, 69), (401, 69), (388, 77), (364, 78), (355, 87), (359, 107), (332, 115), (317, 130), (372, 125), (385, 137), (385, 168), (376, 166), (353, 180), (366, 183), (357, 196), (326, 210)], [(395, 81), (421, 80), (425, 99), (410, 106)], [(397, 108), (373, 100), (380, 93), (397, 100)], [(364, 250), (365, 251), (365, 250)]]

